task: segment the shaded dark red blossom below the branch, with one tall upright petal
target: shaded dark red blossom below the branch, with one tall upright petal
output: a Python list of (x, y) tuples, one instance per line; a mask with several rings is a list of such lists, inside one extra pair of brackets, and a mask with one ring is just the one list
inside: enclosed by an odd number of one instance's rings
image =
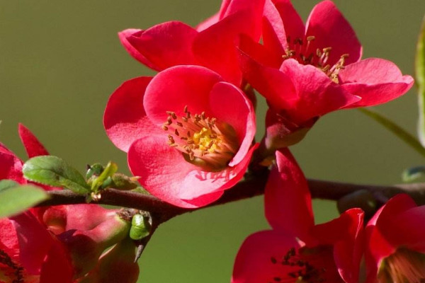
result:
[(234, 263), (232, 283), (358, 282), (363, 212), (349, 209), (314, 225), (310, 192), (290, 152), (276, 151), (265, 191), (273, 230), (252, 234)]

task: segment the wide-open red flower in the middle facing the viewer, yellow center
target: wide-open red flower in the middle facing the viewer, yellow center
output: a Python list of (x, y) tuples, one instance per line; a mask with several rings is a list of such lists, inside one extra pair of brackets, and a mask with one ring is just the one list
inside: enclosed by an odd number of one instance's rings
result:
[(142, 186), (180, 207), (217, 200), (242, 178), (254, 150), (250, 101), (204, 67), (171, 67), (123, 83), (103, 122)]

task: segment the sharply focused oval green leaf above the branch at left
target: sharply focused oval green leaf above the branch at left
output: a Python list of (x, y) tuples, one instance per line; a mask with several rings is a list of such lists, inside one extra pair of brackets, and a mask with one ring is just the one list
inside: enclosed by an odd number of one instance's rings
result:
[(33, 182), (54, 187), (66, 187), (79, 194), (90, 192), (84, 177), (57, 156), (36, 156), (23, 164), (23, 176)]

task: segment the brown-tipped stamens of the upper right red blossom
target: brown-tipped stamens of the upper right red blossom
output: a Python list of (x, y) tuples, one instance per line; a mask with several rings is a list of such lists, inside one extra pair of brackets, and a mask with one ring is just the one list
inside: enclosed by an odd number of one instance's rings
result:
[(332, 47), (326, 47), (322, 50), (317, 48), (315, 51), (312, 50), (312, 42), (314, 41), (314, 36), (307, 36), (305, 40), (302, 40), (300, 37), (295, 38), (291, 41), (290, 37), (287, 37), (288, 48), (285, 50), (285, 55), (283, 59), (293, 58), (297, 62), (304, 65), (312, 65), (317, 67), (324, 72), (329, 79), (334, 81), (334, 83), (339, 83), (338, 74), (341, 69), (344, 69), (345, 60), (348, 57), (348, 54), (342, 54), (338, 62), (333, 65), (327, 63), (329, 59), (329, 54), (332, 50)]

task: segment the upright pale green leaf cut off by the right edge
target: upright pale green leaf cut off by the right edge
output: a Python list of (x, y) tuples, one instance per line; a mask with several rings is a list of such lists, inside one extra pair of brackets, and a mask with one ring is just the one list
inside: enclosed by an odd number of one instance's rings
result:
[(425, 17), (422, 21), (421, 33), (419, 33), (416, 45), (414, 65), (415, 79), (418, 86), (418, 136), (422, 146), (425, 146)]

